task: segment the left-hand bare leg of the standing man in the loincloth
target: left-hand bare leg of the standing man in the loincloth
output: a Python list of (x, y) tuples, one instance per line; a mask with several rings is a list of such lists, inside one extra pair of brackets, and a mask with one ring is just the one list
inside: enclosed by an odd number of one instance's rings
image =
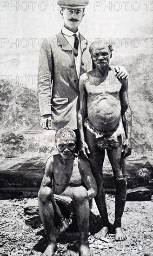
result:
[(89, 155), (89, 163), (97, 183), (97, 195), (95, 196), (95, 202), (97, 208), (100, 212), (100, 216), (102, 219), (102, 229), (100, 232), (96, 234), (97, 238), (106, 237), (109, 229), (109, 221), (107, 215), (107, 208), (106, 208), (106, 199), (105, 199), (105, 190), (103, 188), (103, 174), (102, 174), (102, 167), (105, 158), (105, 150), (100, 150), (96, 145), (96, 140), (90, 131), (85, 131), (86, 136), (86, 143), (89, 147), (90, 155)]

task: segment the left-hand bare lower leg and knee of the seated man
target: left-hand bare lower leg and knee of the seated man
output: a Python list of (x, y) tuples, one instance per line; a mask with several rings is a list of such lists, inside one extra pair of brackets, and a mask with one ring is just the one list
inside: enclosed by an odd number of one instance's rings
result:
[(53, 256), (57, 249), (54, 230), (54, 216), (57, 216), (57, 220), (60, 221), (61, 213), (55, 202), (52, 189), (48, 187), (40, 188), (38, 196), (40, 218), (49, 242), (43, 256)]

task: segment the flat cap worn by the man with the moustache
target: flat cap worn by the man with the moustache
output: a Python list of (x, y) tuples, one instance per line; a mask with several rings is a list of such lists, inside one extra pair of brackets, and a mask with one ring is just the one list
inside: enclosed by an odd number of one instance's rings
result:
[(57, 4), (65, 8), (82, 9), (85, 8), (88, 3), (89, 0), (60, 0)]

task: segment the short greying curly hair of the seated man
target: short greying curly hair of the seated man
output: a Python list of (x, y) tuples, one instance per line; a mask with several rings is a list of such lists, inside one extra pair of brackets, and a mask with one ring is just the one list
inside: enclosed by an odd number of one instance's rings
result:
[(76, 142), (76, 135), (75, 132), (69, 128), (61, 128), (55, 134), (55, 143), (57, 143), (57, 139), (70, 139)]

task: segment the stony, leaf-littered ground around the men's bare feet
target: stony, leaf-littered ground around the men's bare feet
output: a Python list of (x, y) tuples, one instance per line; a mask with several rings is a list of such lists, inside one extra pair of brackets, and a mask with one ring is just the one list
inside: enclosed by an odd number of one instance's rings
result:
[[(47, 240), (38, 218), (37, 224), (33, 217), (24, 214), (24, 205), (31, 198), (1, 200), (1, 241), (2, 256), (40, 256), (47, 246)], [(113, 223), (113, 195), (106, 195), (109, 220)], [(93, 203), (92, 211), (98, 214)], [(35, 219), (36, 220), (36, 219)], [(89, 236), (90, 248), (94, 256), (153, 256), (153, 198), (146, 202), (126, 202), (122, 219), (126, 233), (125, 242), (116, 242), (114, 235), (109, 234), (106, 241)], [(65, 234), (60, 237), (58, 251), (55, 256), (78, 256), (76, 251), (77, 234)]]

